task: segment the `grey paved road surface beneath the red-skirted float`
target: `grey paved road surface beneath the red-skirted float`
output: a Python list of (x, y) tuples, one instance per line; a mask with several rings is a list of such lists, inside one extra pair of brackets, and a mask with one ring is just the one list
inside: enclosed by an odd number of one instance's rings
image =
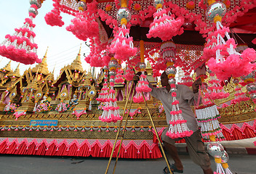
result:
[[(180, 155), (185, 174), (200, 174), (200, 167), (193, 164), (188, 154)], [(108, 165), (108, 158), (92, 157), (36, 157), (36, 156), (0, 156), (1, 174), (104, 174)], [(212, 160), (212, 168), (215, 162)], [(231, 154), (228, 162), (233, 174), (255, 174), (256, 155)], [(114, 160), (108, 173), (113, 173)], [(116, 174), (157, 174), (165, 166), (161, 159), (119, 159)]]

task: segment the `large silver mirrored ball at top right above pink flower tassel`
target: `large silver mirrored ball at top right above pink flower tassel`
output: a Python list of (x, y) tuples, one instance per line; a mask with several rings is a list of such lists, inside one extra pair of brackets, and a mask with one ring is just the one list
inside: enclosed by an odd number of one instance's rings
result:
[(220, 17), (223, 17), (226, 11), (227, 11), (227, 8), (225, 7), (225, 4), (223, 2), (217, 1), (215, 3), (212, 3), (207, 8), (207, 12), (205, 15), (208, 20), (213, 20), (217, 15), (219, 15)]

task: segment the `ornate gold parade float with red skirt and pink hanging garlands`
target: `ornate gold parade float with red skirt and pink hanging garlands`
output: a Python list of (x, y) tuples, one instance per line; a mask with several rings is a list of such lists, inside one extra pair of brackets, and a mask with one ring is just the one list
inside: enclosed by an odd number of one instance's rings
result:
[[(148, 81), (161, 87), (161, 70), (167, 72), (174, 98), (175, 81), (186, 86), (198, 78), (204, 82), (202, 102), (193, 109), (204, 141), (212, 141), (209, 153), (219, 173), (227, 154), (215, 141), (256, 136), (255, 35), (244, 34), (241, 44), (229, 28), (248, 12), (253, 14), (256, 1), (52, 1), (44, 20), (61, 27), (61, 13), (73, 15), (67, 32), (89, 41), (91, 52), (85, 59), (102, 69), (98, 75), (85, 71), (78, 51), (55, 79), (47, 53), (39, 59), (33, 42), (33, 18), (44, 4), (31, 0), (23, 27), (0, 45), (1, 56), (26, 65), (38, 63), (23, 75), (19, 67), (12, 71), (11, 62), (0, 70), (1, 154), (116, 157), (118, 150), (111, 153), (113, 144), (115, 149), (120, 145), (116, 133), (124, 130), (119, 157), (161, 157), (157, 135), (167, 121), (161, 102), (148, 88)], [(132, 78), (138, 71), (135, 86)], [(191, 134), (178, 104), (175, 100), (170, 137)], [(123, 113), (129, 118), (119, 128)], [(215, 148), (219, 154), (212, 152)]]

